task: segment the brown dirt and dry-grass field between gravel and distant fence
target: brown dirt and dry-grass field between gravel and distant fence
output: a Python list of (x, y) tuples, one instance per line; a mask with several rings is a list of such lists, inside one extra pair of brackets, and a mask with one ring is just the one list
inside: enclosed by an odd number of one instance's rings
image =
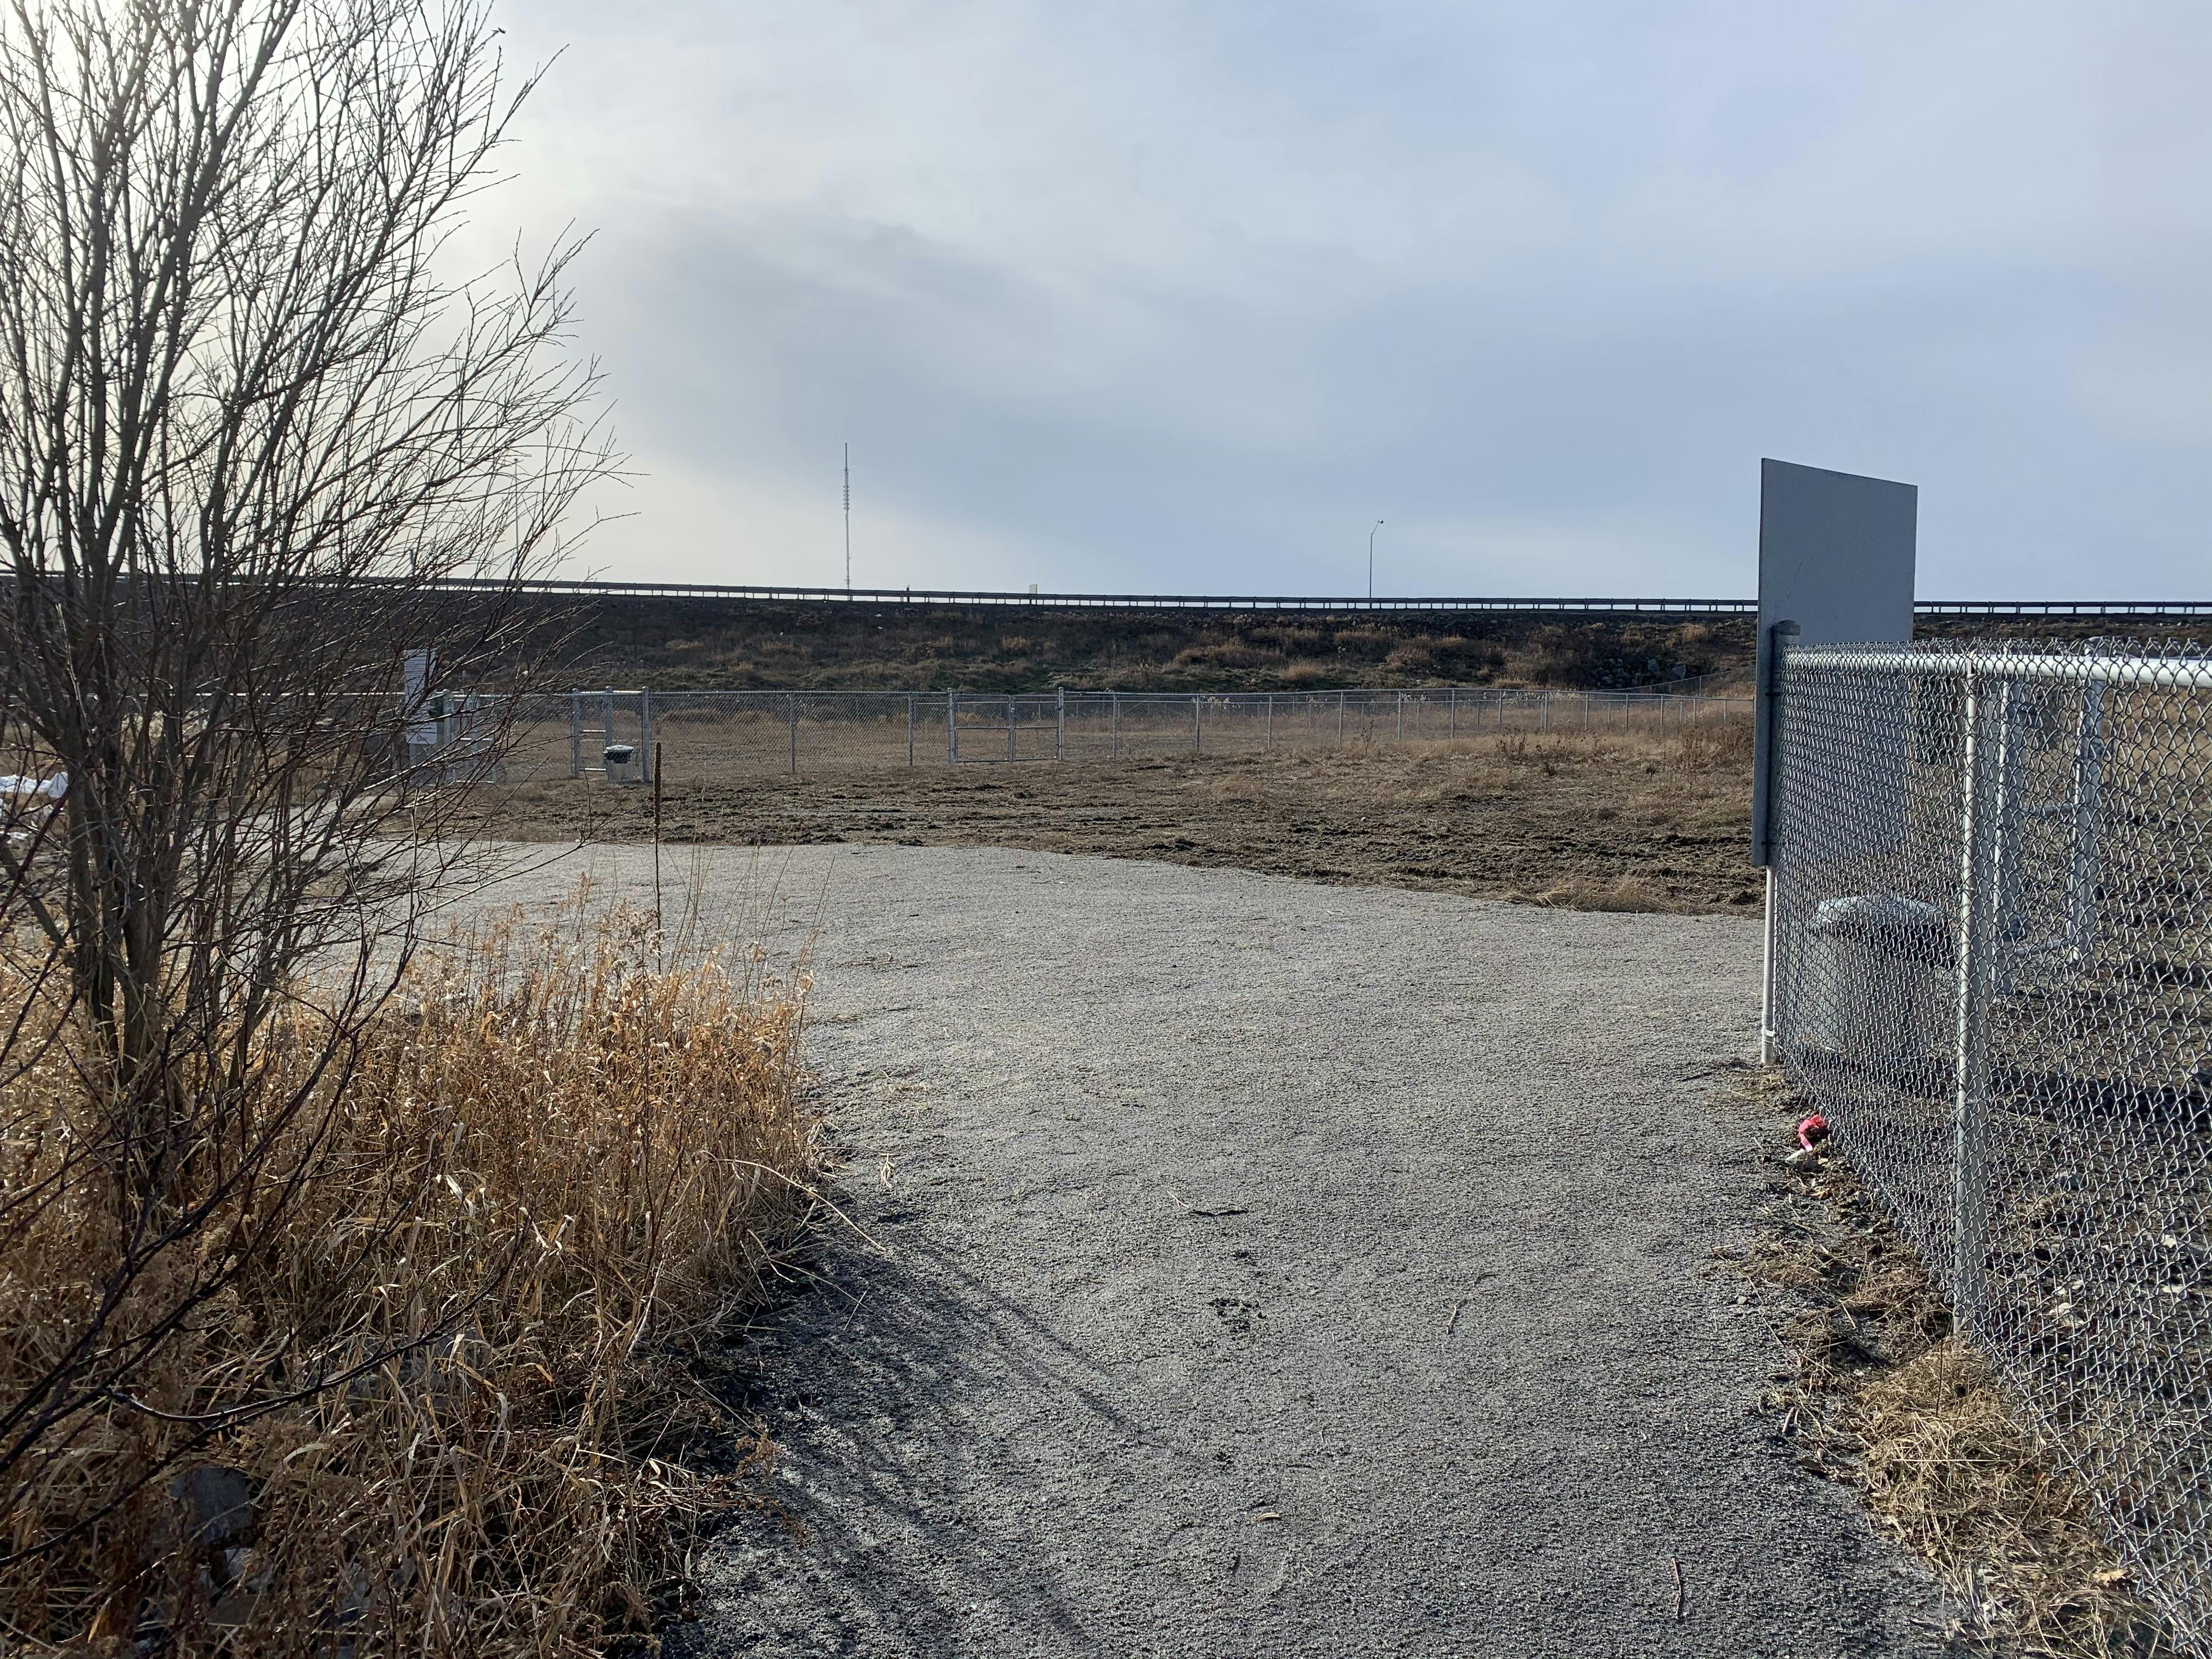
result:
[[(942, 739), (940, 739), (942, 743)], [(849, 765), (721, 776), (664, 759), (670, 843), (998, 845), (1228, 865), (1579, 909), (1736, 911), (1750, 719), (1686, 730), (1150, 752), (1015, 765)], [(653, 794), (597, 779), (511, 785), (487, 830), (641, 841)]]

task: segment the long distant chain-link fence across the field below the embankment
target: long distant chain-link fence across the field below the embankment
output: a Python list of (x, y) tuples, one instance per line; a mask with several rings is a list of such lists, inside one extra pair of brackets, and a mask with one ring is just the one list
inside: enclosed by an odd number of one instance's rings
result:
[(1571, 690), (646, 692), (518, 699), (507, 776), (644, 783), (889, 765), (1259, 754), (1493, 732), (1670, 737), (1741, 723), (1745, 697)]

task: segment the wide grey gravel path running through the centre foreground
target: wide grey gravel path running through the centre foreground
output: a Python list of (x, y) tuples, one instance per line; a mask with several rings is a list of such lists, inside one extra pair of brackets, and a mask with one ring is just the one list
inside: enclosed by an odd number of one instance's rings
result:
[(750, 1349), (779, 1502), (672, 1650), (1940, 1650), (1927, 1577), (1752, 1416), (1770, 1316), (1701, 1272), (1763, 1197), (1712, 1099), (1754, 925), (712, 858), (732, 927), (818, 925), (883, 1250), (825, 1243)]

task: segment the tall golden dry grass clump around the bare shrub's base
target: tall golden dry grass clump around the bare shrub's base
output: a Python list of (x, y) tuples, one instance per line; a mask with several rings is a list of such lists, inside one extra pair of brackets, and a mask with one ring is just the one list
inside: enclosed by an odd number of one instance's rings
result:
[[(648, 1628), (708, 1495), (681, 1462), (712, 1427), (686, 1354), (821, 1168), (803, 984), (659, 949), (635, 916), (507, 925), (414, 975), (288, 1150), (301, 1201), (208, 1228), (250, 1272), (159, 1349), (144, 1409), (42, 1447), (11, 1548), (137, 1491), (0, 1575), (11, 1652), (584, 1655)], [(314, 1035), (303, 1015), (276, 1064)], [(73, 1091), (55, 1064), (9, 1091), (11, 1181), (51, 1159)], [(0, 1409), (91, 1294), (106, 1208), (84, 1183), (0, 1237)], [(181, 1416), (394, 1347), (164, 1469)], [(195, 1535), (195, 1467), (243, 1475), (250, 1517)]]

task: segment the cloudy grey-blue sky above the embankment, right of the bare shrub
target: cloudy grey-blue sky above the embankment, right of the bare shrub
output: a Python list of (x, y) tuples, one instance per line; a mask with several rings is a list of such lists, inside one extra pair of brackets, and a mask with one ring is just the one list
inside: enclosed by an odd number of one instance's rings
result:
[(504, 0), (595, 230), (606, 575), (1743, 595), (1759, 458), (1922, 597), (2208, 597), (2212, 7)]

